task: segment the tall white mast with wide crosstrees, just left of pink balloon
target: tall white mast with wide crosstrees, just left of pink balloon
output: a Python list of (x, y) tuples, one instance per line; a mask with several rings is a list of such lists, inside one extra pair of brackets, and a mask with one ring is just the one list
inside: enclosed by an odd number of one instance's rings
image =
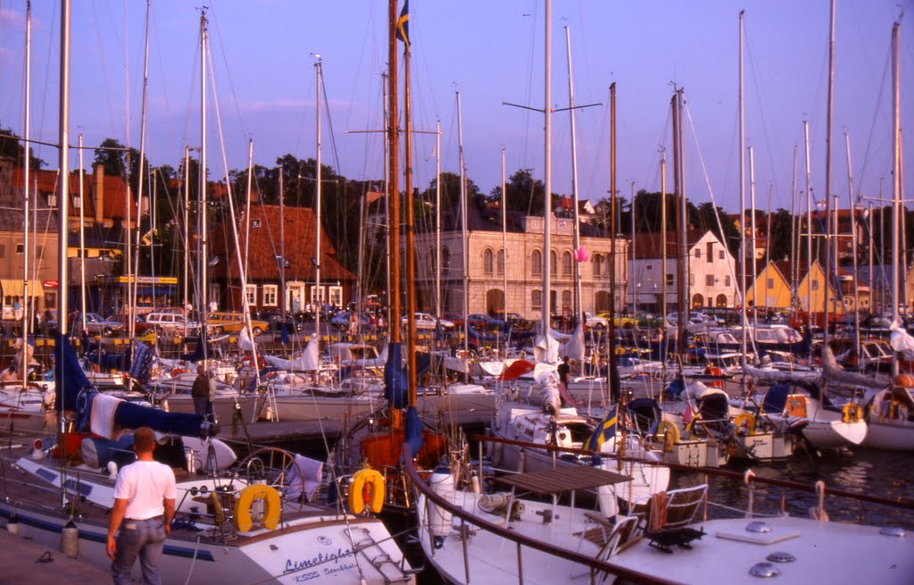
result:
[(540, 321), (544, 337), (549, 338), (549, 314), (552, 308), (552, 282), (549, 266), (552, 250), (552, 2), (546, 0), (545, 69), (543, 80), (543, 314)]

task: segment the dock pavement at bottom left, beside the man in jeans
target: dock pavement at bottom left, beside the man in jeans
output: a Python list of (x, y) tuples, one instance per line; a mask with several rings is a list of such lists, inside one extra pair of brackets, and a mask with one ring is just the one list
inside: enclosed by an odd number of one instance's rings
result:
[(47, 547), (26, 537), (0, 529), (0, 567), (4, 583), (36, 585), (56, 583), (61, 579), (70, 585), (110, 583), (111, 573), (79, 558), (69, 558), (59, 548)]

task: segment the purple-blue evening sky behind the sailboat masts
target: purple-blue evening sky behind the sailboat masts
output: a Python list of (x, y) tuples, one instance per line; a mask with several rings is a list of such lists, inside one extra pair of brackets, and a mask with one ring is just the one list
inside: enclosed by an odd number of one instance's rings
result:
[[(152, 165), (177, 167), (200, 137), (200, 2), (151, 0), (145, 152)], [(468, 176), (485, 193), (507, 174), (545, 160), (544, 0), (412, 0), (414, 185), (434, 178), (436, 123), (441, 169), (458, 172), (459, 130)], [(58, 140), (59, 6), (32, 7), (31, 132)], [(825, 0), (555, 0), (552, 5), (552, 107), (567, 108), (571, 75), (579, 197), (610, 190), (609, 86), (616, 83), (617, 182), (622, 196), (659, 191), (661, 153), (672, 161), (670, 99), (684, 88), (685, 191), (736, 212), (739, 200), (739, 11), (744, 10), (745, 135), (752, 148), (760, 209), (805, 208), (803, 121), (809, 123), (813, 197), (825, 193), (829, 2)], [(914, 1), (837, 0), (831, 192), (849, 205), (891, 196), (890, 32), (900, 20), (903, 151), (912, 152)], [(25, 0), (0, 0), (0, 125), (25, 128)], [(76, 0), (72, 7), (72, 143), (107, 137), (140, 147), (142, 0)], [(383, 0), (207, 0), (207, 160), (212, 178), (226, 168), (272, 166), (291, 153), (316, 152), (315, 67), (320, 55), (322, 160), (352, 179), (383, 176), (383, 78), (387, 3)], [(567, 31), (567, 32), (566, 32)], [(400, 49), (402, 46), (400, 46)], [(402, 61), (402, 58), (400, 58)], [(458, 123), (457, 94), (461, 102)], [(552, 189), (572, 190), (569, 112), (552, 118)], [(224, 154), (223, 154), (224, 153)], [(56, 168), (56, 149), (37, 155)], [(749, 154), (746, 156), (746, 197)], [(793, 207), (794, 157), (797, 200)], [(87, 161), (91, 155), (87, 155)], [(223, 162), (224, 161), (224, 162)], [(73, 155), (71, 166), (76, 165)], [(672, 163), (667, 165), (672, 185)], [(912, 165), (903, 165), (902, 177)]]

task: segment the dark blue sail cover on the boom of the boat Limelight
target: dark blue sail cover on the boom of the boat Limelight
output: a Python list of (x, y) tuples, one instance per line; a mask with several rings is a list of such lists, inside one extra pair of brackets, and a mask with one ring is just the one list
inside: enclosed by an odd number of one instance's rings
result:
[[(100, 392), (91, 385), (89, 378), (86, 378), (86, 373), (80, 367), (80, 359), (69, 345), (67, 335), (58, 334), (55, 354), (55, 399), (58, 411), (76, 412), (77, 420), (82, 421), (83, 428), (88, 430), (92, 402)], [(205, 422), (201, 415), (165, 412), (126, 400), (119, 403), (114, 410), (114, 423), (123, 429), (149, 427), (153, 431), (183, 437), (199, 437), (210, 432), (209, 423)]]

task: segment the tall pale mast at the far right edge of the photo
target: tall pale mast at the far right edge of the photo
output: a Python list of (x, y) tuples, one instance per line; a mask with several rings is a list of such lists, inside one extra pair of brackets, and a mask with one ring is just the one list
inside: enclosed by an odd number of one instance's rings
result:
[[(898, 325), (900, 282), (905, 257), (899, 255), (901, 243), (901, 81), (898, 62), (898, 21), (892, 26), (892, 324)], [(892, 352), (892, 376), (898, 375), (898, 352)]]

